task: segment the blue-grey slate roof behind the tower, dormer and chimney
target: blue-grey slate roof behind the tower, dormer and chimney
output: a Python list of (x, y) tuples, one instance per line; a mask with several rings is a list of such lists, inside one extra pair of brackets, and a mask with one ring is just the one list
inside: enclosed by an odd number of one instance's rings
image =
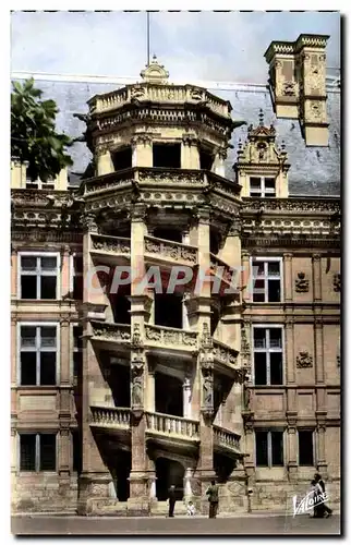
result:
[[(189, 82), (194, 83), (194, 82)], [(108, 93), (121, 85), (116, 83), (92, 83), (78, 81), (53, 81), (41, 80), (36, 86), (44, 92), (44, 98), (56, 100), (60, 113), (57, 117), (58, 130), (65, 132), (71, 137), (76, 137), (85, 130), (85, 123), (73, 118), (73, 113), (85, 113), (88, 111), (87, 100), (94, 95)], [(208, 87), (208, 90), (232, 105), (232, 119), (244, 120), (247, 125), (258, 124), (259, 109), (264, 112), (264, 124), (277, 130), (277, 143), (286, 143), (288, 161), (291, 165), (289, 171), (290, 195), (339, 195), (340, 194), (340, 90), (336, 87), (327, 87), (327, 112), (329, 123), (329, 146), (306, 147), (301, 134), (298, 120), (277, 119), (273, 111), (269, 92), (265, 85), (238, 84), (232, 85), (230, 90), (220, 90)], [(234, 178), (232, 165), (235, 162), (238, 142), (246, 138), (247, 128), (245, 125), (235, 129), (232, 134), (231, 144), (226, 161), (226, 175)], [(87, 167), (92, 154), (84, 143), (74, 144), (71, 148), (74, 160), (70, 183), (78, 183), (78, 175)]]

